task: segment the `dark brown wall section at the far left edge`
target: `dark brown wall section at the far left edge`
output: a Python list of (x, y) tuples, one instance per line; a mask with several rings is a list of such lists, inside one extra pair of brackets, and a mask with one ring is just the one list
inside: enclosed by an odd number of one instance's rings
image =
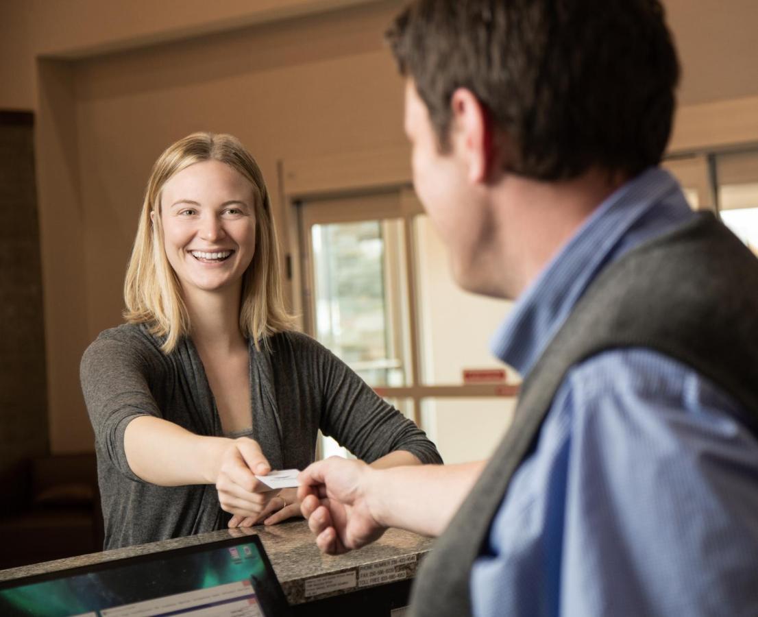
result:
[(0, 514), (23, 503), (22, 463), (48, 448), (33, 116), (0, 112)]

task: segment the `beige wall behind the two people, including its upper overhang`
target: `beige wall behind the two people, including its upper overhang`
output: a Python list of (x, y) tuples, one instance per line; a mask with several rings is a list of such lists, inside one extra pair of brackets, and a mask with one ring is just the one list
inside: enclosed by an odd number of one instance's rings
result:
[[(381, 43), (401, 0), (178, 4), (0, 2), (0, 108), (37, 112), (56, 452), (92, 447), (78, 361), (99, 330), (120, 321), (143, 187), (168, 143), (193, 130), (236, 133), (274, 196), (278, 161), (404, 144), (401, 84)], [(750, 32), (758, 3), (666, 5), (684, 64), (681, 102), (747, 100), (745, 113), (758, 118)]]

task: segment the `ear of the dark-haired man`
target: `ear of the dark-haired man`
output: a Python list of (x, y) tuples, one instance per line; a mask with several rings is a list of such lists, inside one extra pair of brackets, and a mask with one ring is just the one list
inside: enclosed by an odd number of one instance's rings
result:
[(456, 146), (468, 161), (468, 180), (486, 182), (497, 160), (490, 114), (471, 90), (456, 89), (450, 99)]

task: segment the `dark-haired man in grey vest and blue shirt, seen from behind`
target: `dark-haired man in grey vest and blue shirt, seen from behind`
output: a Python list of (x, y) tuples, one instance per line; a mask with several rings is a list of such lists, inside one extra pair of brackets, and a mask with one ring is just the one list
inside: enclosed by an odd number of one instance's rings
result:
[(525, 382), (486, 467), (303, 471), (318, 546), (444, 531), (415, 615), (756, 614), (758, 262), (657, 167), (661, 5), (419, 0), (388, 36), (418, 196), (459, 285), (518, 299)]

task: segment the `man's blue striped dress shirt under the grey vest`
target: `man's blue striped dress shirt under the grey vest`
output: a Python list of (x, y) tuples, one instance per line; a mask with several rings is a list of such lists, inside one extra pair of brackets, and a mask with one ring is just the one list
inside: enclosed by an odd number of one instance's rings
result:
[[(528, 374), (604, 266), (691, 216), (666, 171), (622, 186), (518, 299), (495, 355)], [(737, 412), (649, 349), (575, 366), (471, 571), (475, 615), (758, 615), (758, 440)]]

